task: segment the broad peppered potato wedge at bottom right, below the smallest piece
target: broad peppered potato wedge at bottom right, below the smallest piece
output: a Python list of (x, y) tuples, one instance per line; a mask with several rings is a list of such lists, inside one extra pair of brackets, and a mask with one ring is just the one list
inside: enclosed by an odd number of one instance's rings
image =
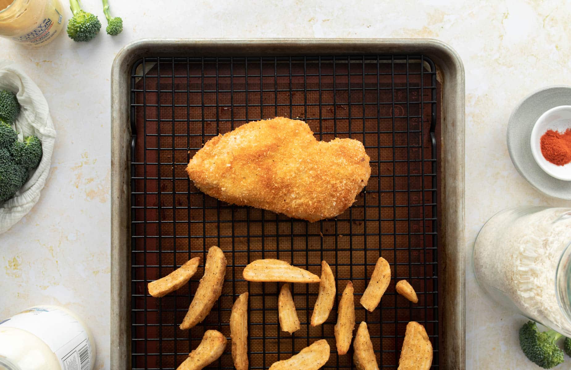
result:
[(424, 326), (411, 321), (404, 334), (398, 370), (428, 370), (432, 365), (432, 343)]

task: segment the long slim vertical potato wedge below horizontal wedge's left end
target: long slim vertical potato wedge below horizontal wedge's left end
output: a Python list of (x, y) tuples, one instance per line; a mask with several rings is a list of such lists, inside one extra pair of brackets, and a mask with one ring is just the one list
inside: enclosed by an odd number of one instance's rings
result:
[(248, 292), (240, 294), (230, 314), (232, 360), (236, 370), (248, 370)]

